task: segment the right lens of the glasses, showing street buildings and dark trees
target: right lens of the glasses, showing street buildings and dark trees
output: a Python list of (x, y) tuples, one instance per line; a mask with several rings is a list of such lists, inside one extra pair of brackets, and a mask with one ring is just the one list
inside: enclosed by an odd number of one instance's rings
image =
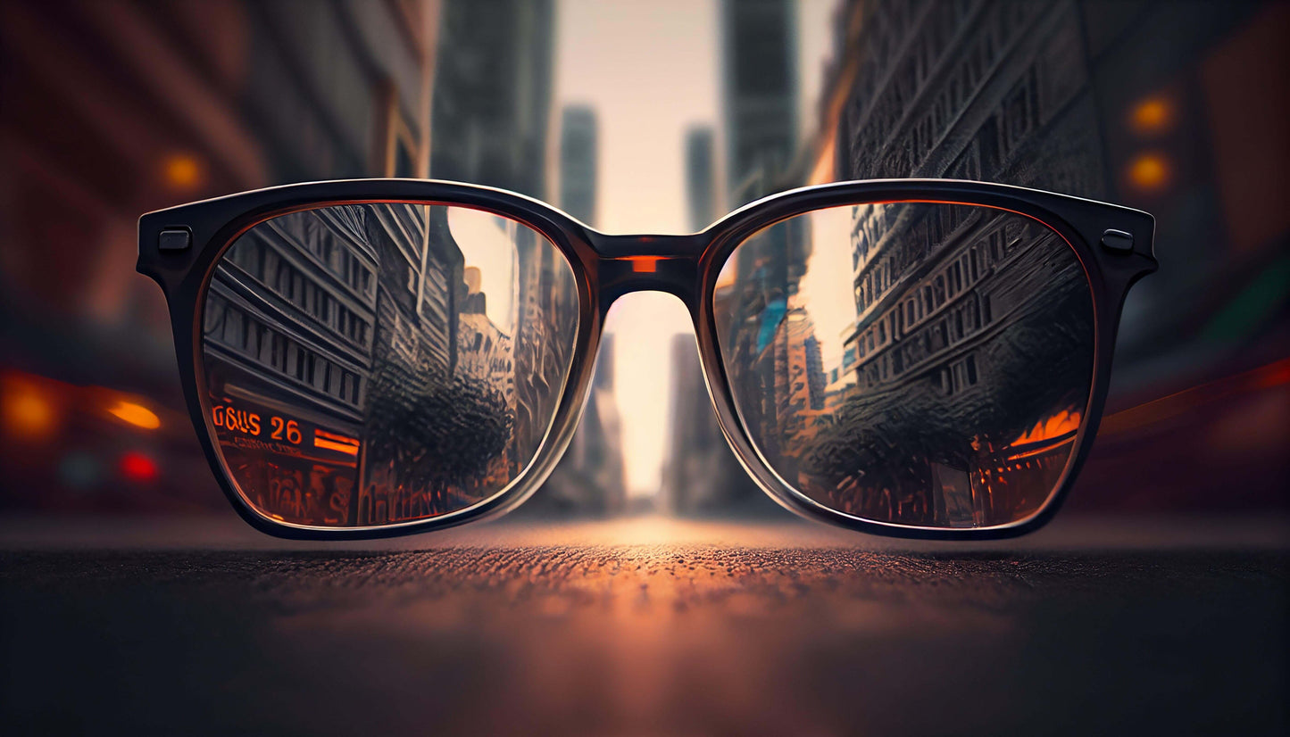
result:
[(1091, 387), (1093, 302), (1041, 223), (944, 204), (819, 210), (739, 245), (715, 304), (740, 420), (817, 503), (993, 527), (1055, 491)]

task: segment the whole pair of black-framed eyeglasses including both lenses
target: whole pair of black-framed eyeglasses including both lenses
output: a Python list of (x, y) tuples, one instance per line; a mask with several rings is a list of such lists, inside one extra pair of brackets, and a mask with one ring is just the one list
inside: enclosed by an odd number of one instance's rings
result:
[(900, 537), (1057, 512), (1106, 399), (1151, 215), (1018, 187), (844, 182), (702, 233), (610, 236), (449, 182), (273, 187), (139, 219), (194, 425), (281, 537), (422, 532), (547, 478), (609, 305), (689, 305), (721, 429), (783, 506)]

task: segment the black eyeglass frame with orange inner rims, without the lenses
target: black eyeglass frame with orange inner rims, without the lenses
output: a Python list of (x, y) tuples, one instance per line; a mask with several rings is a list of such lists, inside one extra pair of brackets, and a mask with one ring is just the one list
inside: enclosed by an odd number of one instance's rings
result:
[[(544, 236), (565, 255), (578, 285), (579, 320), (573, 361), (547, 436), (529, 465), (503, 490), (472, 506), (410, 522), (368, 527), (320, 527), (276, 521), (257, 512), (236, 488), (215, 447), (201, 388), (201, 321), (206, 286), (223, 253), (271, 218), (334, 205), (408, 202), (462, 206), (510, 218)], [(1049, 227), (1075, 250), (1089, 280), (1094, 311), (1094, 367), (1075, 448), (1044, 505), (1031, 517), (983, 528), (935, 528), (862, 519), (796, 491), (756, 450), (735, 410), (717, 344), (713, 294), (729, 255), (780, 220), (826, 207), (935, 202), (975, 205), (1024, 215)], [(166, 247), (163, 247), (166, 232)], [(187, 238), (183, 237), (187, 235)], [(1031, 532), (1058, 512), (1093, 447), (1106, 403), (1124, 299), (1157, 268), (1155, 219), (1140, 210), (1005, 184), (952, 179), (877, 179), (792, 189), (730, 213), (700, 233), (606, 235), (538, 200), (490, 187), (423, 179), (347, 179), (270, 187), (147, 213), (139, 218), (138, 271), (166, 296), (184, 399), (194, 429), (224, 495), (257, 530), (297, 540), (392, 537), (441, 530), (504, 514), (522, 504), (555, 469), (573, 439), (591, 390), (596, 350), (609, 307), (632, 291), (677, 296), (690, 312), (708, 394), (735, 457), (757, 484), (788, 510), (810, 519), (889, 537), (989, 540)], [(179, 241), (179, 244), (175, 242)], [(178, 247), (182, 244), (186, 247)]]

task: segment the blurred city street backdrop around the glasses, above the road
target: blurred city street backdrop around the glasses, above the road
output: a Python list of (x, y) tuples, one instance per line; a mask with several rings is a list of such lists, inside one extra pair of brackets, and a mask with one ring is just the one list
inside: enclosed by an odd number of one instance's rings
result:
[[(0, 0), (0, 513), (231, 515), (139, 214), (316, 179), (503, 187), (608, 232), (948, 177), (1157, 218), (1071, 514), (1284, 514), (1290, 4)], [(609, 318), (519, 514), (787, 514), (738, 466), (675, 299)]]

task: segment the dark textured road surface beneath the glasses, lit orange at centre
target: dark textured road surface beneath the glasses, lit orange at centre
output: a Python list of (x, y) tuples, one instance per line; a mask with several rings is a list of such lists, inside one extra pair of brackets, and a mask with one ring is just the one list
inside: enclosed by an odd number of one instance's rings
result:
[(1284, 734), (1286, 527), (0, 521), (0, 733)]

